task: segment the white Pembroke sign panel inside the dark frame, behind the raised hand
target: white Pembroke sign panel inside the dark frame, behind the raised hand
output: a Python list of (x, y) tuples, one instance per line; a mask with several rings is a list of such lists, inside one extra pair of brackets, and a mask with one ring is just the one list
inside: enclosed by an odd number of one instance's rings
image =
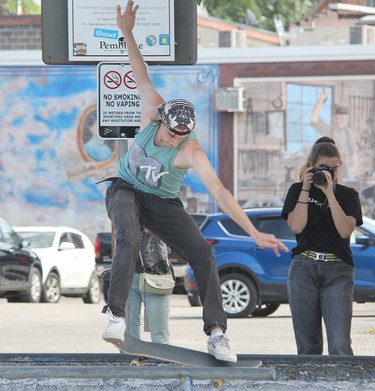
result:
[[(117, 4), (118, 0), (68, 0), (70, 61), (126, 61)], [(174, 0), (142, 0), (133, 32), (145, 61), (174, 61)]]

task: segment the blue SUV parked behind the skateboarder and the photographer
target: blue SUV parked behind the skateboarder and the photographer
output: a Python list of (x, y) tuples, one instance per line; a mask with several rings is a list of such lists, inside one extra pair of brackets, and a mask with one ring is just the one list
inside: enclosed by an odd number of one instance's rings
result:
[[(281, 218), (280, 207), (244, 210), (254, 226), (273, 233), (292, 249), (295, 236)], [(212, 245), (219, 271), (223, 307), (229, 318), (267, 316), (288, 303), (286, 283), (291, 253), (276, 257), (260, 248), (245, 231), (223, 213), (206, 215), (200, 229)], [(355, 262), (354, 301), (375, 301), (375, 220), (364, 218), (351, 237)], [(201, 305), (192, 269), (185, 273), (185, 289), (192, 306)]]

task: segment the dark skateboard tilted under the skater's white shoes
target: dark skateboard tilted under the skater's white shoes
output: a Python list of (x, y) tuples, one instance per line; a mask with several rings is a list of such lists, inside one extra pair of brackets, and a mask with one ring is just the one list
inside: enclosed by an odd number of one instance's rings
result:
[(244, 360), (237, 363), (217, 360), (212, 355), (179, 346), (142, 341), (127, 336), (125, 342), (116, 345), (121, 352), (139, 357), (133, 365), (140, 365), (145, 358), (153, 358), (194, 367), (246, 367), (258, 368), (260, 360)]

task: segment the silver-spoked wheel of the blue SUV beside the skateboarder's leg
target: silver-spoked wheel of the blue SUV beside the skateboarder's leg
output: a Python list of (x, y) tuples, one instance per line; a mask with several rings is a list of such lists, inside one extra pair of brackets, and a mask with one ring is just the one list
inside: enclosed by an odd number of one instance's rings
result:
[(257, 303), (257, 290), (246, 276), (231, 273), (220, 278), (223, 307), (228, 318), (246, 318)]

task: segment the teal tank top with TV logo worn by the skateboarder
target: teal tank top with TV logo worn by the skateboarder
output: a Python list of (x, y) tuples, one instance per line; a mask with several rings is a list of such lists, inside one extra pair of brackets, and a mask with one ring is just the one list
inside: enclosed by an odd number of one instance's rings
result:
[(119, 161), (118, 176), (145, 193), (175, 198), (180, 195), (181, 182), (188, 169), (175, 168), (174, 159), (185, 142), (198, 138), (192, 132), (176, 148), (158, 147), (154, 139), (159, 126), (151, 122), (136, 135), (129, 151)]

